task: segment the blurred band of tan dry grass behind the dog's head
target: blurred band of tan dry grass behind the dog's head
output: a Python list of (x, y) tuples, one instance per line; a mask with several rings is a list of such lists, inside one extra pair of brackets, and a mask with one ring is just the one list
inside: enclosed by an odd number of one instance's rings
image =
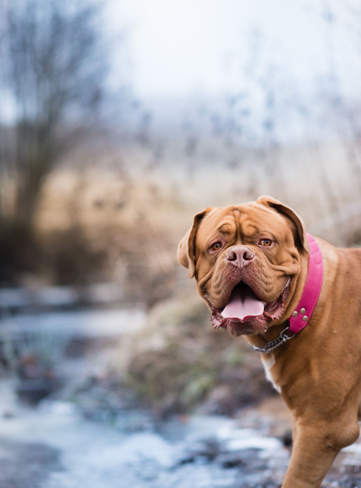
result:
[(47, 177), (34, 271), (45, 282), (114, 281), (124, 301), (148, 306), (177, 296), (185, 283), (176, 248), (193, 215), (261, 194), (289, 204), (332, 244), (361, 240), (361, 182), (341, 143), (249, 151), (233, 166), (195, 159), (192, 173), (184, 157), (150, 171), (146, 154), (128, 148), (122, 159), (104, 154), (101, 163), (68, 162)]

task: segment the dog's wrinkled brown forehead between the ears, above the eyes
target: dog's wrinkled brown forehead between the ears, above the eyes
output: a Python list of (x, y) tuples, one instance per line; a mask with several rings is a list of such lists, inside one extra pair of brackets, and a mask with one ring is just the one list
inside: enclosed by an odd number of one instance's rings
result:
[(245, 236), (267, 232), (284, 235), (287, 230), (290, 228), (278, 212), (258, 203), (248, 203), (213, 209), (202, 220), (197, 240), (208, 239), (215, 234), (235, 234), (238, 231)]

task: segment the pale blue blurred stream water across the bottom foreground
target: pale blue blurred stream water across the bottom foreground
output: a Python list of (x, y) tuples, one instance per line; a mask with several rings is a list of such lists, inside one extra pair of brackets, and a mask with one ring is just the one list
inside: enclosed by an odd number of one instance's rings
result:
[[(59, 464), (47, 472), (41, 488), (234, 487), (265, 481), (277, 476), (276, 471), (282, 475), (288, 464), (289, 450), (279, 439), (238, 428), (227, 418), (194, 416), (169, 422), (162, 432), (149, 428), (127, 433), (83, 419), (67, 402), (20, 408), (9, 402), (11, 387), (5, 390), (2, 385), (1, 437), (14, 446), (59, 453)], [(18, 480), (14, 486), (26, 485)]]

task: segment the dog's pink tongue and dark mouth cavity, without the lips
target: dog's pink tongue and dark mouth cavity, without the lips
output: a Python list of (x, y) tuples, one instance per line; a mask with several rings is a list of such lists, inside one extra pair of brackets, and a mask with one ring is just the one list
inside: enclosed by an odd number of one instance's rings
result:
[(237, 319), (242, 322), (252, 320), (262, 315), (264, 305), (248, 286), (237, 287), (232, 291), (229, 302), (224, 307), (221, 316), (226, 319)]

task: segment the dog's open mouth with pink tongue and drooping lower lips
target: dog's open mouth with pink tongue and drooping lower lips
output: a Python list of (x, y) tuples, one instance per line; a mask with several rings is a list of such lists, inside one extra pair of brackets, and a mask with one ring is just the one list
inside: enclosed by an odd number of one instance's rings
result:
[(230, 323), (266, 326), (267, 322), (281, 318), (289, 284), (290, 279), (277, 300), (266, 303), (257, 297), (250, 286), (240, 282), (233, 288), (227, 305), (223, 308), (216, 308), (212, 305), (213, 326), (216, 329), (227, 328)]

